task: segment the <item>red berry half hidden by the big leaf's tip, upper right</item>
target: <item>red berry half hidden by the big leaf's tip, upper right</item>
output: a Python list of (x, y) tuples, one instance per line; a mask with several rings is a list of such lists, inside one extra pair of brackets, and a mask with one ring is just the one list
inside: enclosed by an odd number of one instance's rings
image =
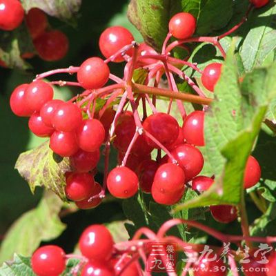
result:
[(210, 63), (206, 68), (204, 68), (204, 71), (201, 76), (201, 81), (204, 87), (211, 92), (214, 92), (215, 85), (217, 84), (217, 81), (219, 80), (220, 74), (221, 74), (221, 63)]

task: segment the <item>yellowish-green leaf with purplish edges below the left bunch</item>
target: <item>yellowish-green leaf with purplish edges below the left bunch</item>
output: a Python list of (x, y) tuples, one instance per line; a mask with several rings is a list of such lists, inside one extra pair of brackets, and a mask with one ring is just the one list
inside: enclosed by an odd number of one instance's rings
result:
[(70, 171), (69, 159), (55, 155), (48, 141), (34, 150), (21, 153), (15, 168), (28, 181), (32, 193), (37, 186), (42, 186), (67, 201), (64, 186), (65, 172)]

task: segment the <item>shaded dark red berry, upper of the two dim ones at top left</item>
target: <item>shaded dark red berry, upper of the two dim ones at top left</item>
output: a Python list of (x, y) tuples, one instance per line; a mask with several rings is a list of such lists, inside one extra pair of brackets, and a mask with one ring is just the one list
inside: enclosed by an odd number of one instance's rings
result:
[(43, 10), (39, 10), (39, 8), (32, 8), (26, 15), (26, 24), (32, 39), (36, 39), (46, 30), (48, 26), (48, 19)]

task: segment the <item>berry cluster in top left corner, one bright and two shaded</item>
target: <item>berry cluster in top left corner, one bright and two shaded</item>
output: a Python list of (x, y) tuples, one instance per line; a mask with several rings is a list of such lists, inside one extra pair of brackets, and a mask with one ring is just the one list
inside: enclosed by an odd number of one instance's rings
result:
[[(46, 14), (39, 8), (32, 8), (28, 14), (24, 13), (19, 0), (0, 1), (0, 29), (11, 31), (18, 28), (23, 20), (30, 32), (34, 48), (41, 59), (46, 61), (57, 61), (62, 59), (68, 52), (68, 38), (59, 30), (48, 30), (48, 19)], [(34, 52), (23, 52), (23, 59), (34, 57)], [(7, 67), (0, 60), (0, 66)]]

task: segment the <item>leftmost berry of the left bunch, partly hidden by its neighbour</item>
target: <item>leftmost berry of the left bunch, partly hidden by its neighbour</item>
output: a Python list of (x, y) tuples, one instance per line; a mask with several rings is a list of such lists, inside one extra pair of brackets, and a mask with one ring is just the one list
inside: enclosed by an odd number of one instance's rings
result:
[(29, 117), (32, 115), (32, 110), (26, 104), (26, 89), (28, 86), (28, 84), (17, 86), (10, 96), (10, 108), (19, 117)]

